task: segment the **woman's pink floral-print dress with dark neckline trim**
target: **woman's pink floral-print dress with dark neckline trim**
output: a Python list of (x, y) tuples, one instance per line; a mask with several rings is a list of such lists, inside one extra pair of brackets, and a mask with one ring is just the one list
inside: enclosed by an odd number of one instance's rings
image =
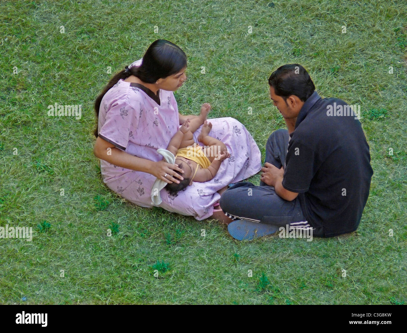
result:
[[(129, 67), (132, 66), (133, 64)], [(129, 82), (119, 80), (101, 101), (98, 133), (124, 147), (130, 155), (153, 162), (161, 161), (162, 155), (157, 153), (157, 149), (168, 146), (180, 124), (173, 92), (160, 89), (159, 97), (162, 105), (158, 105), (141, 89), (132, 89)], [(157, 111), (154, 113), (154, 108), (158, 108), (159, 115)], [(120, 109), (127, 111), (127, 115), (120, 112)], [(159, 207), (192, 215), (197, 220), (212, 215), (213, 204), (220, 198), (217, 193), (219, 189), (246, 179), (261, 169), (260, 150), (245, 126), (230, 117), (208, 121), (213, 125), (210, 135), (226, 144), (234, 161), (226, 162), (226, 159), (221, 163), (214, 179), (205, 183), (193, 182), (176, 196), (170, 196), (166, 189), (160, 192), (162, 203)], [(194, 133), (195, 141), (200, 131), (201, 128), (198, 128)], [(113, 192), (120, 193), (120, 196), (135, 205), (153, 207), (151, 189), (155, 176), (147, 172), (118, 168), (104, 160), (100, 163), (103, 182)]]

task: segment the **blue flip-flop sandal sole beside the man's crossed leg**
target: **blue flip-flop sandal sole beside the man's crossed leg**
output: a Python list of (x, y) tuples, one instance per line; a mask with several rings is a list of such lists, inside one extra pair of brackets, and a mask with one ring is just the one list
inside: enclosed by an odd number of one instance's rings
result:
[(230, 222), (228, 224), (228, 231), (234, 239), (252, 240), (276, 233), (278, 226), (241, 219)]

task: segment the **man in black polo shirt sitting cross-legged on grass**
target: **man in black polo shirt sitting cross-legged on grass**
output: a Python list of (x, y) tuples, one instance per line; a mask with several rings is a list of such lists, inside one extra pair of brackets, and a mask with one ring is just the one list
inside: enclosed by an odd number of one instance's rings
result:
[(355, 231), (373, 174), (357, 115), (343, 100), (321, 98), (298, 64), (279, 67), (269, 86), (288, 131), (270, 135), (260, 186), (240, 182), (222, 194), (229, 233), (242, 240), (286, 226), (316, 237)]

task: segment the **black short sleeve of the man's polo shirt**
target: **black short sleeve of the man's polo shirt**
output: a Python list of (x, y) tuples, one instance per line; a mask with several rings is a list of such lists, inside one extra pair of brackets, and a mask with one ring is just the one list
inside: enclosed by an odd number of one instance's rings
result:
[(295, 193), (307, 192), (317, 165), (315, 152), (291, 138), (285, 159), (282, 186)]

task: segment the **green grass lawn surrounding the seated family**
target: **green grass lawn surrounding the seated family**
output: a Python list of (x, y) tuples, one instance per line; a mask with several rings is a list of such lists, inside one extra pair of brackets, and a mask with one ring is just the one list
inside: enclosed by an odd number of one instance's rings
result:
[[(403, 1), (1, 2), (0, 226), (34, 235), (0, 239), (0, 303), (406, 303), (406, 11)], [(92, 105), (107, 67), (158, 38), (188, 56), (180, 112), (210, 102), (211, 117), (245, 124), (263, 159), (284, 126), (268, 96), (278, 66), (300, 63), (320, 95), (360, 104), (374, 175), (357, 232), (238, 242), (214, 220), (111, 192), (92, 152)], [(55, 102), (81, 104), (82, 118), (48, 117)]]

